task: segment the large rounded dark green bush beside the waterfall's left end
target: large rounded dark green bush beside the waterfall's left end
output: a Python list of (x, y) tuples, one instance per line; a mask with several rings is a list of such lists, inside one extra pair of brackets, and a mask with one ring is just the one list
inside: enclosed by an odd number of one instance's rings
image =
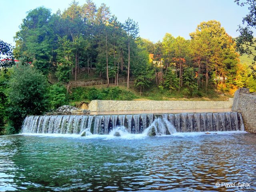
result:
[(16, 132), (27, 115), (40, 115), (47, 110), (46, 77), (31, 66), (14, 69), (8, 82), (8, 117)]

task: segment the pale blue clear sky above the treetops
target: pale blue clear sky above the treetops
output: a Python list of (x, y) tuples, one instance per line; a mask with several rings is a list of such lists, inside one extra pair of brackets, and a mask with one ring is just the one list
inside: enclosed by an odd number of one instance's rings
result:
[[(85, 0), (76, 0), (83, 5)], [(13, 37), (19, 30), (22, 19), (29, 10), (44, 6), (52, 13), (68, 8), (72, 0), (0, 0), (0, 39), (15, 45)], [(202, 21), (220, 21), (226, 32), (238, 36), (236, 32), (242, 18), (248, 13), (246, 7), (238, 6), (234, 0), (93, 0), (100, 6), (105, 3), (111, 14), (120, 22), (128, 17), (139, 24), (140, 37), (153, 42), (162, 40), (166, 32), (174, 37), (190, 39)]]

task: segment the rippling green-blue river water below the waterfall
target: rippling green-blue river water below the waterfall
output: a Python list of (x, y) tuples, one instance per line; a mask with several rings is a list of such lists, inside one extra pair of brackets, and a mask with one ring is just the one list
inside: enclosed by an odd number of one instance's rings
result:
[(244, 132), (0, 136), (0, 191), (256, 191), (255, 159), (256, 134)]

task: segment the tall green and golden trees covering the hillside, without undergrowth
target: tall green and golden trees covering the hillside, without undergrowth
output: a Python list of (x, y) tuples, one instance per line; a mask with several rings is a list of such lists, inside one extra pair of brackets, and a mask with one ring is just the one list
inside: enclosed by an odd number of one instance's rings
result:
[[(246, 85), (244, 66), (239, 63), (235, 42), (220, 22), (200, 23), (191, 40), (166, 33), (162, 42), (137, 37), (138, 23), (128, 18), (118, 22), (105, 4), (88, 0), (83, 6), (72, 2), (64, 12), (52, 14), (39, 7), (28, 12), (15, 36), (14, 56), (31, 59), (43, 74), (53, 73), (59, 82), (74, 80), (81, 68), (98, 78), (130, 78), (144, 89), (155, 80), (156, 86), (188, 91), (209, 86)], [(196, 93), (191, 93), (196, 94)]]

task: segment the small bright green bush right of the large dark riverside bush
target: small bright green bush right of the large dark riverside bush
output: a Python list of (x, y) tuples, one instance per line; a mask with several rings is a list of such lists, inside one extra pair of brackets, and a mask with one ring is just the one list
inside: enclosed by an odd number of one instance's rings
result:
[(66, 87), (61, 84), (54, 84), (50, 86), (48, 98), (51, 109), (56, 109), (62, 105), (67, 104)]

